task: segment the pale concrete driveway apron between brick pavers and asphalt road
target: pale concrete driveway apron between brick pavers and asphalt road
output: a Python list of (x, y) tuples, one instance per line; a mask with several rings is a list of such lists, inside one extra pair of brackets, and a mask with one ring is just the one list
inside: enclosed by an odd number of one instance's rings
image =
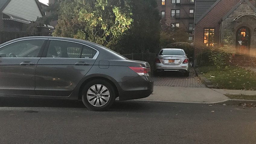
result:
[(139, 100), (213, 104), (228, 101), (229, 98), (210, 88), (154, 86), (152, 95)]

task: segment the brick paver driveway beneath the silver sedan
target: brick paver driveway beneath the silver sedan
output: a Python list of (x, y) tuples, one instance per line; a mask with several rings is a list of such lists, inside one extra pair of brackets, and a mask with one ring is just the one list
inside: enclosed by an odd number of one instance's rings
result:
[(179, 72), (164, 72), (152, 79), (155, 86), (205, 87), (197, 78), (194, 69), (190, 69), (189, 77), (185, 77)]

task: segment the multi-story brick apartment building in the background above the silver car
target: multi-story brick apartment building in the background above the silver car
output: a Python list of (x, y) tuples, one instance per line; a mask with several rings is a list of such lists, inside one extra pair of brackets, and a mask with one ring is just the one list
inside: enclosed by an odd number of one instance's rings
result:
[(157, 0), (157, 4), (161, 22), (190, 33), (188, 39), (193, 42), (194, 0)]

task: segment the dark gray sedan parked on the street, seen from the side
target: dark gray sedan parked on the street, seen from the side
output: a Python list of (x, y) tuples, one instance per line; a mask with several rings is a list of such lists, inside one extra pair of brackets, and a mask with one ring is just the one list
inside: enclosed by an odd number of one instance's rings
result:
[(153, 92), (150, 66), (83, 40), (27, 37), (0, 45), (0, 95), (82, 100), (90, 110)]

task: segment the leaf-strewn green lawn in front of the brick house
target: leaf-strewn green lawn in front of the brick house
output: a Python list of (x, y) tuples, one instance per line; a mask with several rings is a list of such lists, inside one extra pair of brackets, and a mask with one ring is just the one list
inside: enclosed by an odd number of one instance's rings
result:
[(256, 73), (241, 67), (199, 67), (200, 73), (213, 82), (216, 88), (256, 90)]

